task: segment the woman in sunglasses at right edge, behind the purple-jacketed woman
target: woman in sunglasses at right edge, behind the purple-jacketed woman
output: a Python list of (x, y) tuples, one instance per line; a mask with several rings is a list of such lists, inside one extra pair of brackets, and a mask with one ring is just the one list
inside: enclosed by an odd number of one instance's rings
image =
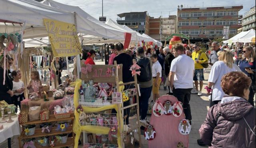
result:
[(239, 68), (244, 72), (248, 77), (251, 78), (252, 84), (249, 88), (249, 99), (248, 101), (254, 106), (254, 95), (256, 92), (256, 55), (255, 51), (251, 46), (247, 46), (242, 50), (244, 58), (239, 62)]

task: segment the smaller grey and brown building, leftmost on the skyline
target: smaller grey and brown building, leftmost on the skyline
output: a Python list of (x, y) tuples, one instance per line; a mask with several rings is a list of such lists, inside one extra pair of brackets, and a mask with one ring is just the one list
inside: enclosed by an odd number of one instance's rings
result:
[(138, 33), (149, 35), (148, 12), (128, 12), (117, 15), (117, 23), (126, 25)]

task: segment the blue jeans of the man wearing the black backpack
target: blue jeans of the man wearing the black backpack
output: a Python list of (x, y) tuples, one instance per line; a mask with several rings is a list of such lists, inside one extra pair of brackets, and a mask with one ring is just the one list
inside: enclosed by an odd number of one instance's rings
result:
[(140, 88), (140, 97), (139, 97), (139, 110), (141, 119), (145, 119), (148, 111), (148, 99), (150, 98), (152, 92), (152, 86), (149, 88)]

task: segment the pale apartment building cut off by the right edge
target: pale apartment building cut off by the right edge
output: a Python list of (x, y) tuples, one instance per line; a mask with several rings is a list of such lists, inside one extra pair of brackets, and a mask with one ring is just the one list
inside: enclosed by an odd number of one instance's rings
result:
[(255, 6), (250, 8), (248, 12), (243, 15), (242, 18), (242, 31), (248, 31), (250, 29), (255, 29)]

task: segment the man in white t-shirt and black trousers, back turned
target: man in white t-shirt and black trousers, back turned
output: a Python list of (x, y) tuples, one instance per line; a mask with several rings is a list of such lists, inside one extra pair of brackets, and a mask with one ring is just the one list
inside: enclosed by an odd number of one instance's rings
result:
[(193, 88), (193, 75), (194, 75), (194, 60), (184, 54), (184, 47), (176, 44), (172, 47), (174, 49), (174, 60), (172, 60), (170, 68), (170, 87), (173, 95), (182, 102), (183, 111), (186, 119), (191, 124), (191, 111), (190, 111), (190, 94)]

